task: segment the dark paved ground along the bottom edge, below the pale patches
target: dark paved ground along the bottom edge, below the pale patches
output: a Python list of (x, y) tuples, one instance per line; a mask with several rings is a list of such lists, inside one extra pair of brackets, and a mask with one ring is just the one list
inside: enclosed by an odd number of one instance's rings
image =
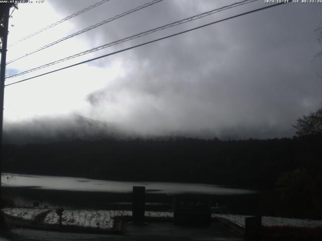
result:
[[(200, 227), (177, 226), (171, 222), (150, 222), (144, 226), (127, 224), (124, 234), (88, 234), (56, 232), (17, 228), (11, 230), (4, 240), (244, 240), (227, 225), (219, 221)], [(0, 241), (2, 241), (0, 237)]]

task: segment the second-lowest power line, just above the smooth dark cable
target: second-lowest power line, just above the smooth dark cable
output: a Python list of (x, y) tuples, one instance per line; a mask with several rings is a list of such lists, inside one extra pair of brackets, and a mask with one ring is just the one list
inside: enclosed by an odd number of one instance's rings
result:
[(20, 75), (23, 75), (23, 74), (27, 74), (27, 73), (30, 73), (30, 72), (33, 72), (33, 71), (36, 71), (36, 70), (39, 70), (39, 69), (49, 67), (49, 66), (54, 65), (54, 64), (64, 62), (64, 61), (69, 60), (69, 59), (73, 59), (73, 58), (76, 58), (76, 57), (79, 57), (79, 56), (82, 56), (82, 55), (85, 55), (85, 54), (89, 54), (89, 53), (92, 53), (92, 52), (95, 52), (95, 51), (99, 51), (99, 50), (111, 47), (113, 45), (117, 45), (117, 44), (129, 41), (129, 40), (133, 40), (133, 39), (136, 39), (136, 38), (148, 35), (148, 34), (152, 34), (154, 32), (160, 31), (160, 30), (164, 30), (164, 29), (171, 28), (171, 27), (174, 27), (174, 26), (177, 26), (177, 25), (188, 23), (188, 22), (200, 19), (200, 18), (204, 18), (204, 17), (209, 16), (211, 14), (218, 13), (220, 11), (224, 11), (224, 10), (227, 10), (227, 9), (231, 9), (231, 8), (234, 8), (234, 7), (237, 7), (237, 6), (240, 6), (240, 5), (244, 5), (244, 4), (248, 4), (248, 3), (252, 3), (252, 2), (255, 2), (255, 1), (258, 1), (258, 0), (244, 0), (244, 1), (234, 3), (234, 4), (231, 4), (231, 5), (223, 6), (223, 7), (219, 8), (219, 9), (214, 9), (214, 10), (211, 10), (211, 11), (199, 14), (199, 15), (195, 15), (195, 16), (192, 16), (192, 17), (177, 21), (177, 22), (173, 22), (171, 24), (160, 26), (160, 27), (157, 27), (155, 29), (151, 29), (151, 30), (148, 30), (148, 31), (136, 34), (136, 35), (132, 35), (132, 36), (126, 37), (124, 39), (113, 41), (111, 43), (104, 44), (104, 45), (101, 45), (101, 46), (98, 46), (98, 47), (95, 47), (95, 48), (92, 48), (92, 49), (89, 49), (89, 50), (86, 50), (86, 51), (83, 51), (83, 52), (80, 52), (80, 53), (77, 53), (77, 54), (74, 54), (74, 55), (71, 55), (71, 56), (68, 56), (68, 57), (65, 57), (65, 58), (62, 58), (62, 59), (56, 60), (54, 62), (50, 62), (50, 63), (44, 64), (44, 65), (38, 66), (38, 67), (33, 68), (33, 69), (29, 69), (29, 70), (25, 70), (25, 71), (21, 71), (21, 72), (16, 72), (16, 73), (8, 75), (6, 77), (7, 78), (13, 78), (13, 77), (17, 77), (17, 76), (20, 76)]

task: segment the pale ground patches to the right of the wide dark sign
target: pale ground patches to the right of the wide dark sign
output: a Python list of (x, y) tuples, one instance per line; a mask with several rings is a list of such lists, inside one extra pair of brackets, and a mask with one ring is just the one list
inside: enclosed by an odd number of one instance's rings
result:
[[(245, 227), (245, 217), (247, 215), (232, 215), (232, 214), (211, 214), (212, 217), (225, 218), (240, 227)], [(318, 227), (322, 226), (322, 220), (311, 219), (296, 219), (285, 217), (262, 217), (263, 226), (292, 226), (292, 227)]]

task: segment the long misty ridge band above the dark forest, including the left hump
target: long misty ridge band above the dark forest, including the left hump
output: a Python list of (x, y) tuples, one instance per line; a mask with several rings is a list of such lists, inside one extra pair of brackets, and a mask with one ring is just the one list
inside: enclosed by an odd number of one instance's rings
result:
[[(285, 131), (287, 130), (287, 131)], [(95, 119), (72, 115), (65, 117), (42, 117), (31, 121), (19, 123), (5, 123), (4, 143), (5, 144), (33, 144), (33, 143), (52, 143), (61, 141), (89, 140), (96, 141), (101, 139), (133, 140), (133, 139), (169, 139), (169, 138), (198, 138), (220, 140), (245, 140), (284, 138), (292, 137), (295, 134), (293, 129), (271, 128), (263, 126), (255, 128), (235, 127), (234, 129), (222, 129), (218, 132), (211, 130), (192, 130), (190, 132), (134, 132), (129, 128), (122, 128), (113, 123), (105, 123)]]

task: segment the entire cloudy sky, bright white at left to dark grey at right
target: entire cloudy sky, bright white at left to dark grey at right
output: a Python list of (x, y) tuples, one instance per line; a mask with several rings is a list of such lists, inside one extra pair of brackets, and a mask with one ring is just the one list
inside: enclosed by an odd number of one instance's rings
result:
[[(8, 44), (98, 0), (33, 2), (13, 13)], [(110, 0), (9, 48), (7, 60), (147, 2)], [(165, 0), (11, 63), (7, 74), (235, 2)], [(263, 6), (222, 11), (7, 83)], [(81, 115), (142, 135), (291, 137), (296, 119), (322, 104), (322, 57), (312, 61), (321, 13), (322, 4), (285, 4), (8, 86), (4, 128), (42, 119), (48, 128)]]

